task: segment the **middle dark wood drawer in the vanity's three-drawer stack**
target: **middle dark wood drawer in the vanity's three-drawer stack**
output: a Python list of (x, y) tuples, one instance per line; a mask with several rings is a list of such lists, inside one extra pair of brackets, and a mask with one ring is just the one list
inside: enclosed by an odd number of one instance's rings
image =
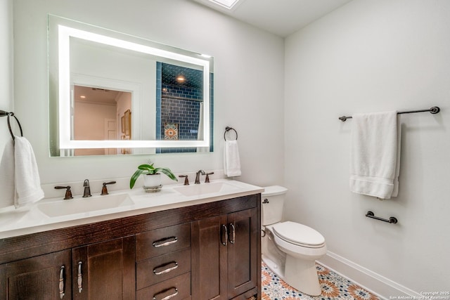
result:
[(191, 248), (136, 263), (136, 288), (142, 289), (191, 271)]

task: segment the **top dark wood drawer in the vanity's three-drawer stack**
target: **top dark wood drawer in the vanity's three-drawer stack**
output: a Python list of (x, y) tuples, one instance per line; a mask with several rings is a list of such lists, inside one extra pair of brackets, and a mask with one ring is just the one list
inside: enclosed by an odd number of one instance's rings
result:
[(191, 247), (191, 224), (155, 229), (136, 235), (136, 261)]

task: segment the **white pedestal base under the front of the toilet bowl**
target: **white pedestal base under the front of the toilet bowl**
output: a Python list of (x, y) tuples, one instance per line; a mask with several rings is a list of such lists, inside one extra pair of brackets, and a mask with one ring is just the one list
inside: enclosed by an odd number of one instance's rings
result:
[(319, 296), (321, 286), (316, 270), (316, 262), (286, 256), (284, 280), (288, 285), (310, 296)]

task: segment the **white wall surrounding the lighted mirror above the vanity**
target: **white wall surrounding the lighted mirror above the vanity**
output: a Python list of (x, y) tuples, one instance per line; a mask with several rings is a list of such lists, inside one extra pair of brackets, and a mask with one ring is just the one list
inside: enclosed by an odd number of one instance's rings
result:
[[(214, 152), (50, 158), (47, 13), (214, 56)], [(283, 39), (186, 0), (15, 0), (14, 30), (15, 106), (42, 183), (129, 177), (149, 157), (175, 173), (222, 169), (227, 125), (239, 133), (239, 180), (283, 183)]]

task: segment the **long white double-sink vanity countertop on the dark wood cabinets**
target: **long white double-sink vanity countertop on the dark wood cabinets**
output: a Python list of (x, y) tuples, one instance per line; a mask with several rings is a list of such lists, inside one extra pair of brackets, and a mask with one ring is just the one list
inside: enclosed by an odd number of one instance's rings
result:
[(0, 238), (261, 192), (262, 188), (255, 185), (219, 179), (211, 183), (164, 185), (158, 193), (146, 193), (143, 188), (134, 188), (114, 191), (109, 195), (75, 195), (71, 200), (63, 200), (63, 197), (49, 198), (25, 210), (0, 213)]

